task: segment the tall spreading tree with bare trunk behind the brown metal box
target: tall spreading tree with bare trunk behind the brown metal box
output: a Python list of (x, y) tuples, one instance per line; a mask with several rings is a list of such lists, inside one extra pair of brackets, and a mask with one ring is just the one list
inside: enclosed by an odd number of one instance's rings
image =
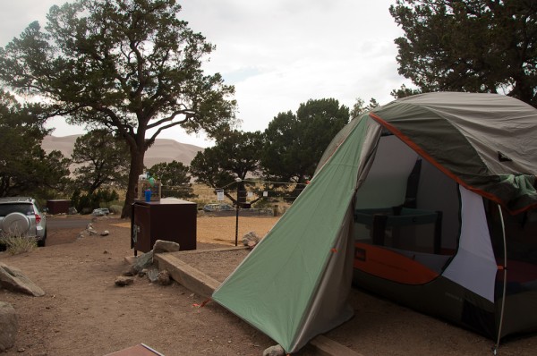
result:
[(201, 69), (214, 46), (180, 11), (175, 0), (78, 0), (51, 7), (45, 30), (31, 23), (0, 48), (0, 81), (46, 97), (44, 117), (106, 127), (127, 142), (124, 216), (161, 131), (179, 125), (212, 137), (235, 121), (234, 87)]

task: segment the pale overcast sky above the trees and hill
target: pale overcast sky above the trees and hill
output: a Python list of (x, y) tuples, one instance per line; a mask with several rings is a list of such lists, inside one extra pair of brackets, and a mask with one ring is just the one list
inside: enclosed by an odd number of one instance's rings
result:
[[(281, 112), (309, 99), (333, 97), (352, 107), (357, 97), (379, 104), (408, 81), (397, 74), (397, 28), (388, 8), (395, 0), (183, 0), (179, 17), (217, 49), (205, 64), (235, 87), (243, 131), (263, 131)], [(45, 24), (63, 0), (0, 0), (0, 47), (31, 21)], [(55, 136), (82, 133), (62, 119)], [(203, 137), (168, 130), (159, 138), (201, 147)]]

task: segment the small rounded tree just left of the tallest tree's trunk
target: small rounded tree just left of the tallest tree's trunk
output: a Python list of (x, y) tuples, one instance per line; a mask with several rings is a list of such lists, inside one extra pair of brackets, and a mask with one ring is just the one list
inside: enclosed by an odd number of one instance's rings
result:
[(95, 130), (76, 139), (72, 150), (74, 187), (92, 195), (114, 184), (125, 189), (129, 174), (129, 150), (124, 140), (107, 130)]

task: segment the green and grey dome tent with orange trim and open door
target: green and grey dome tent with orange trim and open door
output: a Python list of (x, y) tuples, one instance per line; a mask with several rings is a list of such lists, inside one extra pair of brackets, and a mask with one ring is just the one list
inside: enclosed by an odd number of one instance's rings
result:
[(497, 340), (537, 328), (535, 133), (537, 110), (494, 94), (362, 115), (213, 300), (286, 352), (353, 316), (353, 283)]

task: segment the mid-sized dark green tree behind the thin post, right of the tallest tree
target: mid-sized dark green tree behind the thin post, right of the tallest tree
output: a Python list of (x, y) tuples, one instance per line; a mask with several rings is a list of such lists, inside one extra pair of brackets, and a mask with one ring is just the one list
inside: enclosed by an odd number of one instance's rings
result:
[[(204, 183), (212, 188), (231, 186), (239, 191), (239, 201), (246, 199), (246, 182), (241, 181), (247, 175), (260, 174), (260, 153), (263, 139), (260, 131), (243, 132), (228, 131), (226, 137), (217, 140), (212, 148), (198, 152), (191, 162), (190, 171), (196, 177), (196, 182)], [(226, 197), (235, 204), (237, 197), (234, 191), (225, 191)]]

